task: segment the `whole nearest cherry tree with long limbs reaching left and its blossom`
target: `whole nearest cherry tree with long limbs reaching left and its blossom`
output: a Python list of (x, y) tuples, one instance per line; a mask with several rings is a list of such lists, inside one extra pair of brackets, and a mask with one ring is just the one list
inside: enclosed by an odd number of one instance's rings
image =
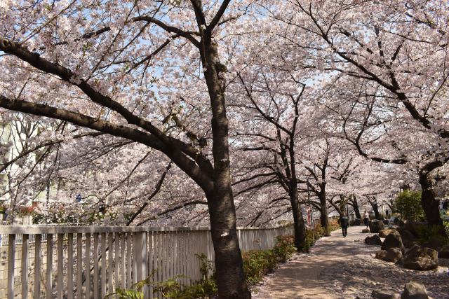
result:
[[(248, 298), (220, 53), (250, 1), (229, 2), (2, 2), (0, 106), (166, 155), (207, 199), (220, 298)], [(173, 109), (207, 112), (197, 123), (206, 138), (166, 113)]]

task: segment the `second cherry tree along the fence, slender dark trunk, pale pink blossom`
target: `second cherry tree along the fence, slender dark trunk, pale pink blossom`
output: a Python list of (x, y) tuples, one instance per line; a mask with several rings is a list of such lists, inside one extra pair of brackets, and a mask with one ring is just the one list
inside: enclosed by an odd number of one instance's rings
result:
[(262, 160), (253, 163), (253, 167), (242, 165), (246, 167), (245, 175), (236, 183), (252, 182), (245, 192), (273, 184), (281, 186), (284, 196), (279, 194), (270, 204), (290, 202), (288, 211), (293, 214), (295, 246), (299, 250), (304, 245), (305, 225), (297, 190), (295, 141), (304, 118), (300, 110), (304, 111), (305, 85), (293, 74), (264, 67), (256, 60), (250, 63), (237, 72), (231, 106), (241, 115), (241, 125), (235, 133), (241, 151), (260, 155)]

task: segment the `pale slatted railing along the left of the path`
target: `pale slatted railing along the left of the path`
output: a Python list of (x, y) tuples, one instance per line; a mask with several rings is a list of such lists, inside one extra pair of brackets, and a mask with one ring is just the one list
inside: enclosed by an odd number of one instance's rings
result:
[[(4, 225), (0, 234), (8, 235), (0, 247), (0, 298), (8, 299), (104, 298), (154, 270), (143, 291), (162, 298), (152, 286), (173, 277), (191, 285), (201, 279), (196, 254), (214, 258), (208, 228)], [(292, 225), (238, 229), (242, 251), (272, 248), (277, 235), (291, 234)]]

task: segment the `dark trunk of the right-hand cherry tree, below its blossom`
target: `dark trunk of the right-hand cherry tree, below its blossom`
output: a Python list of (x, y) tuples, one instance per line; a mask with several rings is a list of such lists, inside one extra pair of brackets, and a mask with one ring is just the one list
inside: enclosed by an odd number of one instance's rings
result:
[(420, 185), (422, 189), (421, 205), (429, 227), (437, 226), (441, 231), (441, 234), (447, 237), (443, 227), (443, 219), (441, 219), (440, 210), (438, 208), (439, 202), (435, 197), (432, 183), (429, 179), (429, 172), (420, 174)]

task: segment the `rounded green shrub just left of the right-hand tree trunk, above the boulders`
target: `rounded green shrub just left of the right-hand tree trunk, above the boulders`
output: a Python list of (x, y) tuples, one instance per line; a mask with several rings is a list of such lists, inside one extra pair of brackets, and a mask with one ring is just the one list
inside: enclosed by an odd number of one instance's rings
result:
[(409, 221), (424, 221), (424, 210), (421, 206), (421, 192), (404, 190), (398, 194), (394, 200), (393, 208), (395, 213)]

